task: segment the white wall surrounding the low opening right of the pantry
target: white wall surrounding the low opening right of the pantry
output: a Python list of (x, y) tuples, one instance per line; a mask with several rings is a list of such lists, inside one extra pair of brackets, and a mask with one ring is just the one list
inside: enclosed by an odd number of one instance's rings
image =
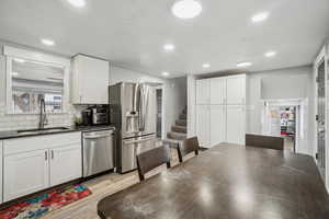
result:
[(310, 66), (247, 74), (247, 132), (261, 134), (261, 117), (265, 99), (303, 99), (304, 139), (300, 139), (297, 152), (313, 155), (315, 143), (313, 77)]

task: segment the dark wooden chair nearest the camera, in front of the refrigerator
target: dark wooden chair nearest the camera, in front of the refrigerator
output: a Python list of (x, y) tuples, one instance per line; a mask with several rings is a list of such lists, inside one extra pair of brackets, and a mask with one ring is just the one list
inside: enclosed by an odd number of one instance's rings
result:
[(162, 164), (170, 168), (170, 150), (168, 146), (151, 149), (137, 155), (139, 180), (145, 180), (145, 174)]

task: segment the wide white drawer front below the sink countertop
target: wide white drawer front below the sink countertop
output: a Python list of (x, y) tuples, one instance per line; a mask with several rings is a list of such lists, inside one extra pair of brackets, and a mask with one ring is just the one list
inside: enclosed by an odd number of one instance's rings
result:
[(16, 138), (3, 141), (3, 153), (13, 154), (33, 150), (43, 150), (61, 146), (81, 143), (81, 132), (54, 134)]

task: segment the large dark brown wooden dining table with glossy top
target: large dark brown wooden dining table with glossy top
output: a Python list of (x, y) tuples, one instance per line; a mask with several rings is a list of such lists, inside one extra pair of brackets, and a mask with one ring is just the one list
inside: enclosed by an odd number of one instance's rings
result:
[(98, 203), (111, 219), (329, 219), (315, 159), (220, 143)]

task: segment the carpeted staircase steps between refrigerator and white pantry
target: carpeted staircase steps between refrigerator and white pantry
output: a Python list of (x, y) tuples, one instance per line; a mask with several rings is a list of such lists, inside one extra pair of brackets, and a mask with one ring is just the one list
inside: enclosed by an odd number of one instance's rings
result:
[(186, 108), (181, 113), (175, 124), (171, 126), (171, 131), (167, 134), (164, 142), (169, 143), (171, 148), (177, 148), (178, 143), (182, 142), (186, 138), (188, 132), (188, 117)]

